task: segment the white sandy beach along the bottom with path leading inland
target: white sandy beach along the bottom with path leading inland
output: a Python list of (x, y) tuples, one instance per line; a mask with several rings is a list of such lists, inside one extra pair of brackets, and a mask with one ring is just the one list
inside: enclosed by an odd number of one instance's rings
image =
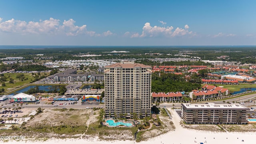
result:
[[(30, 138), (25, 138), (23, 141), (8, 141), (6, 144), (253, 144), (256, 132), (211, 132), (202, 130), (192, 130), (182, 128), (180, 126), (180, 117), (174, 111), (169, 109), (172, 113), (172, 121), (176, 127), (175, 131), (150, 138), (147, 141), (135, 142), (130, 140), (116, 140), (116, 141), (100, 141), (98, 138), (90, 139), (48, 139), (42, 141), (30, 141)], [(243, 140), (243, 141), (242, 141)]]

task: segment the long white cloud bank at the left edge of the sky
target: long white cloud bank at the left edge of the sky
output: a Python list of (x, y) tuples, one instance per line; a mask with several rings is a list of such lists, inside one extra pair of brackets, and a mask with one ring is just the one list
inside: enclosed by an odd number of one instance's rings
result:
[[(89, 35), (101, 36), (94, 31), (89, 31), (86, 25), (76, 26), (73, 19), (64, 20), (60, 24), (60, 20), (50, 18), (49, 20), (40, 20), (39, 22), (25, 22), (21, 20), (2, 21), (0, 18), (0, 32), (19, 33), (19, 34), (66, 34), (67, 36)], [(109, 30), (104, 32), (102, 36), (113, 35)]]

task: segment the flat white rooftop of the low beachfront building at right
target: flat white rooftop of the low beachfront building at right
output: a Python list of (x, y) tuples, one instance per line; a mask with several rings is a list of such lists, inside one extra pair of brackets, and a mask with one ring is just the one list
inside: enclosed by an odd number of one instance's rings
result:
[(190, 104), (183, 103), (184, 106), (188, 110), (250, 110), (246, 106), (242, 104), (214, 104), (214, 103), (206, 103), (206, 104)]

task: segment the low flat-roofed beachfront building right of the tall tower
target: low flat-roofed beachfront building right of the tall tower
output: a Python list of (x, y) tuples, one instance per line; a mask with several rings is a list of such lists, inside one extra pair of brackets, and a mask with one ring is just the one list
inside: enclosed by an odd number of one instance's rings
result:
[(247, 124), (246, 110), (241, 104), (181, 104), (186, 124)]

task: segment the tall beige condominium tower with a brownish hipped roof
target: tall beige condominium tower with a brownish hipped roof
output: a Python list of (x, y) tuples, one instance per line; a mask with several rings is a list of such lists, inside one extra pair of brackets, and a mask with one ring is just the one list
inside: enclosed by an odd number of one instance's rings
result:
[(144, 118), (151, 112), (151, 67), (134, 62), (105, 66), (105, 116)]

